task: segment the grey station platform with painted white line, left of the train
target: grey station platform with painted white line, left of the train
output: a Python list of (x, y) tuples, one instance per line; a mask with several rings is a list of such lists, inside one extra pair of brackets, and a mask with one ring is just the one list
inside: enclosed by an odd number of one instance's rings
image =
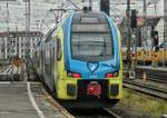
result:
[(40, 82), (0, 82), (0, 118), (65, 118)]

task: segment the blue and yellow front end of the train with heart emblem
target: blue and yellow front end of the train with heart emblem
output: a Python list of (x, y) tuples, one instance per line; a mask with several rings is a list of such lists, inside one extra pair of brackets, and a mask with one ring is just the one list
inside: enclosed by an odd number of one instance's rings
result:
[(75, 11), (66, 28), (65, 71), (58, 81), (58, 98), (70, 107), (115, 105), (122, 97), (120, 36), (116, 26), (104, 12)]

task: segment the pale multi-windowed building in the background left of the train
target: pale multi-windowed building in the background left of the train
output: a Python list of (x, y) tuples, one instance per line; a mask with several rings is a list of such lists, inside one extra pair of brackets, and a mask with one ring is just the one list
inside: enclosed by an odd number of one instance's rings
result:
[[(42, 38), (39, 31), (31, 31), (28, 40), (26, 31), (0, 32), (0, 60), (11, 59), (14, 56), (26, 59), (27, 52), (32, 57), (36, 43)], [(29, 51), (27, 49), (29, 48)]]

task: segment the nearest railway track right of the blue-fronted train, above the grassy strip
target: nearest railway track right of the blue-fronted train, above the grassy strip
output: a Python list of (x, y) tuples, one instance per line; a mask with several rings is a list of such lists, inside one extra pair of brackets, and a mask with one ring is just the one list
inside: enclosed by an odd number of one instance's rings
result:
[(147, 83), (139, 83), (137, 81), (124, 79), (124, 86), (130, 89), (143, 91), (159, 98), (167, 99), (167, 89), (158, 88)]

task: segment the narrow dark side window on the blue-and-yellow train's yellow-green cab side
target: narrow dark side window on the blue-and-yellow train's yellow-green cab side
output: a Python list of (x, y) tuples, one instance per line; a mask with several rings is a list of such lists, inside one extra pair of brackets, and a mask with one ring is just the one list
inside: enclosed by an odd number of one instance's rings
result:
[(59, 38), (57, 38), (57, 41), (56, 41), (56, 43), (57, 43), (57, 49), (56, 49), (56, 51), (57, 51), (57, 60), (59, 61), (59, 60), (61, 60), (61, 40), (59, 39)]

